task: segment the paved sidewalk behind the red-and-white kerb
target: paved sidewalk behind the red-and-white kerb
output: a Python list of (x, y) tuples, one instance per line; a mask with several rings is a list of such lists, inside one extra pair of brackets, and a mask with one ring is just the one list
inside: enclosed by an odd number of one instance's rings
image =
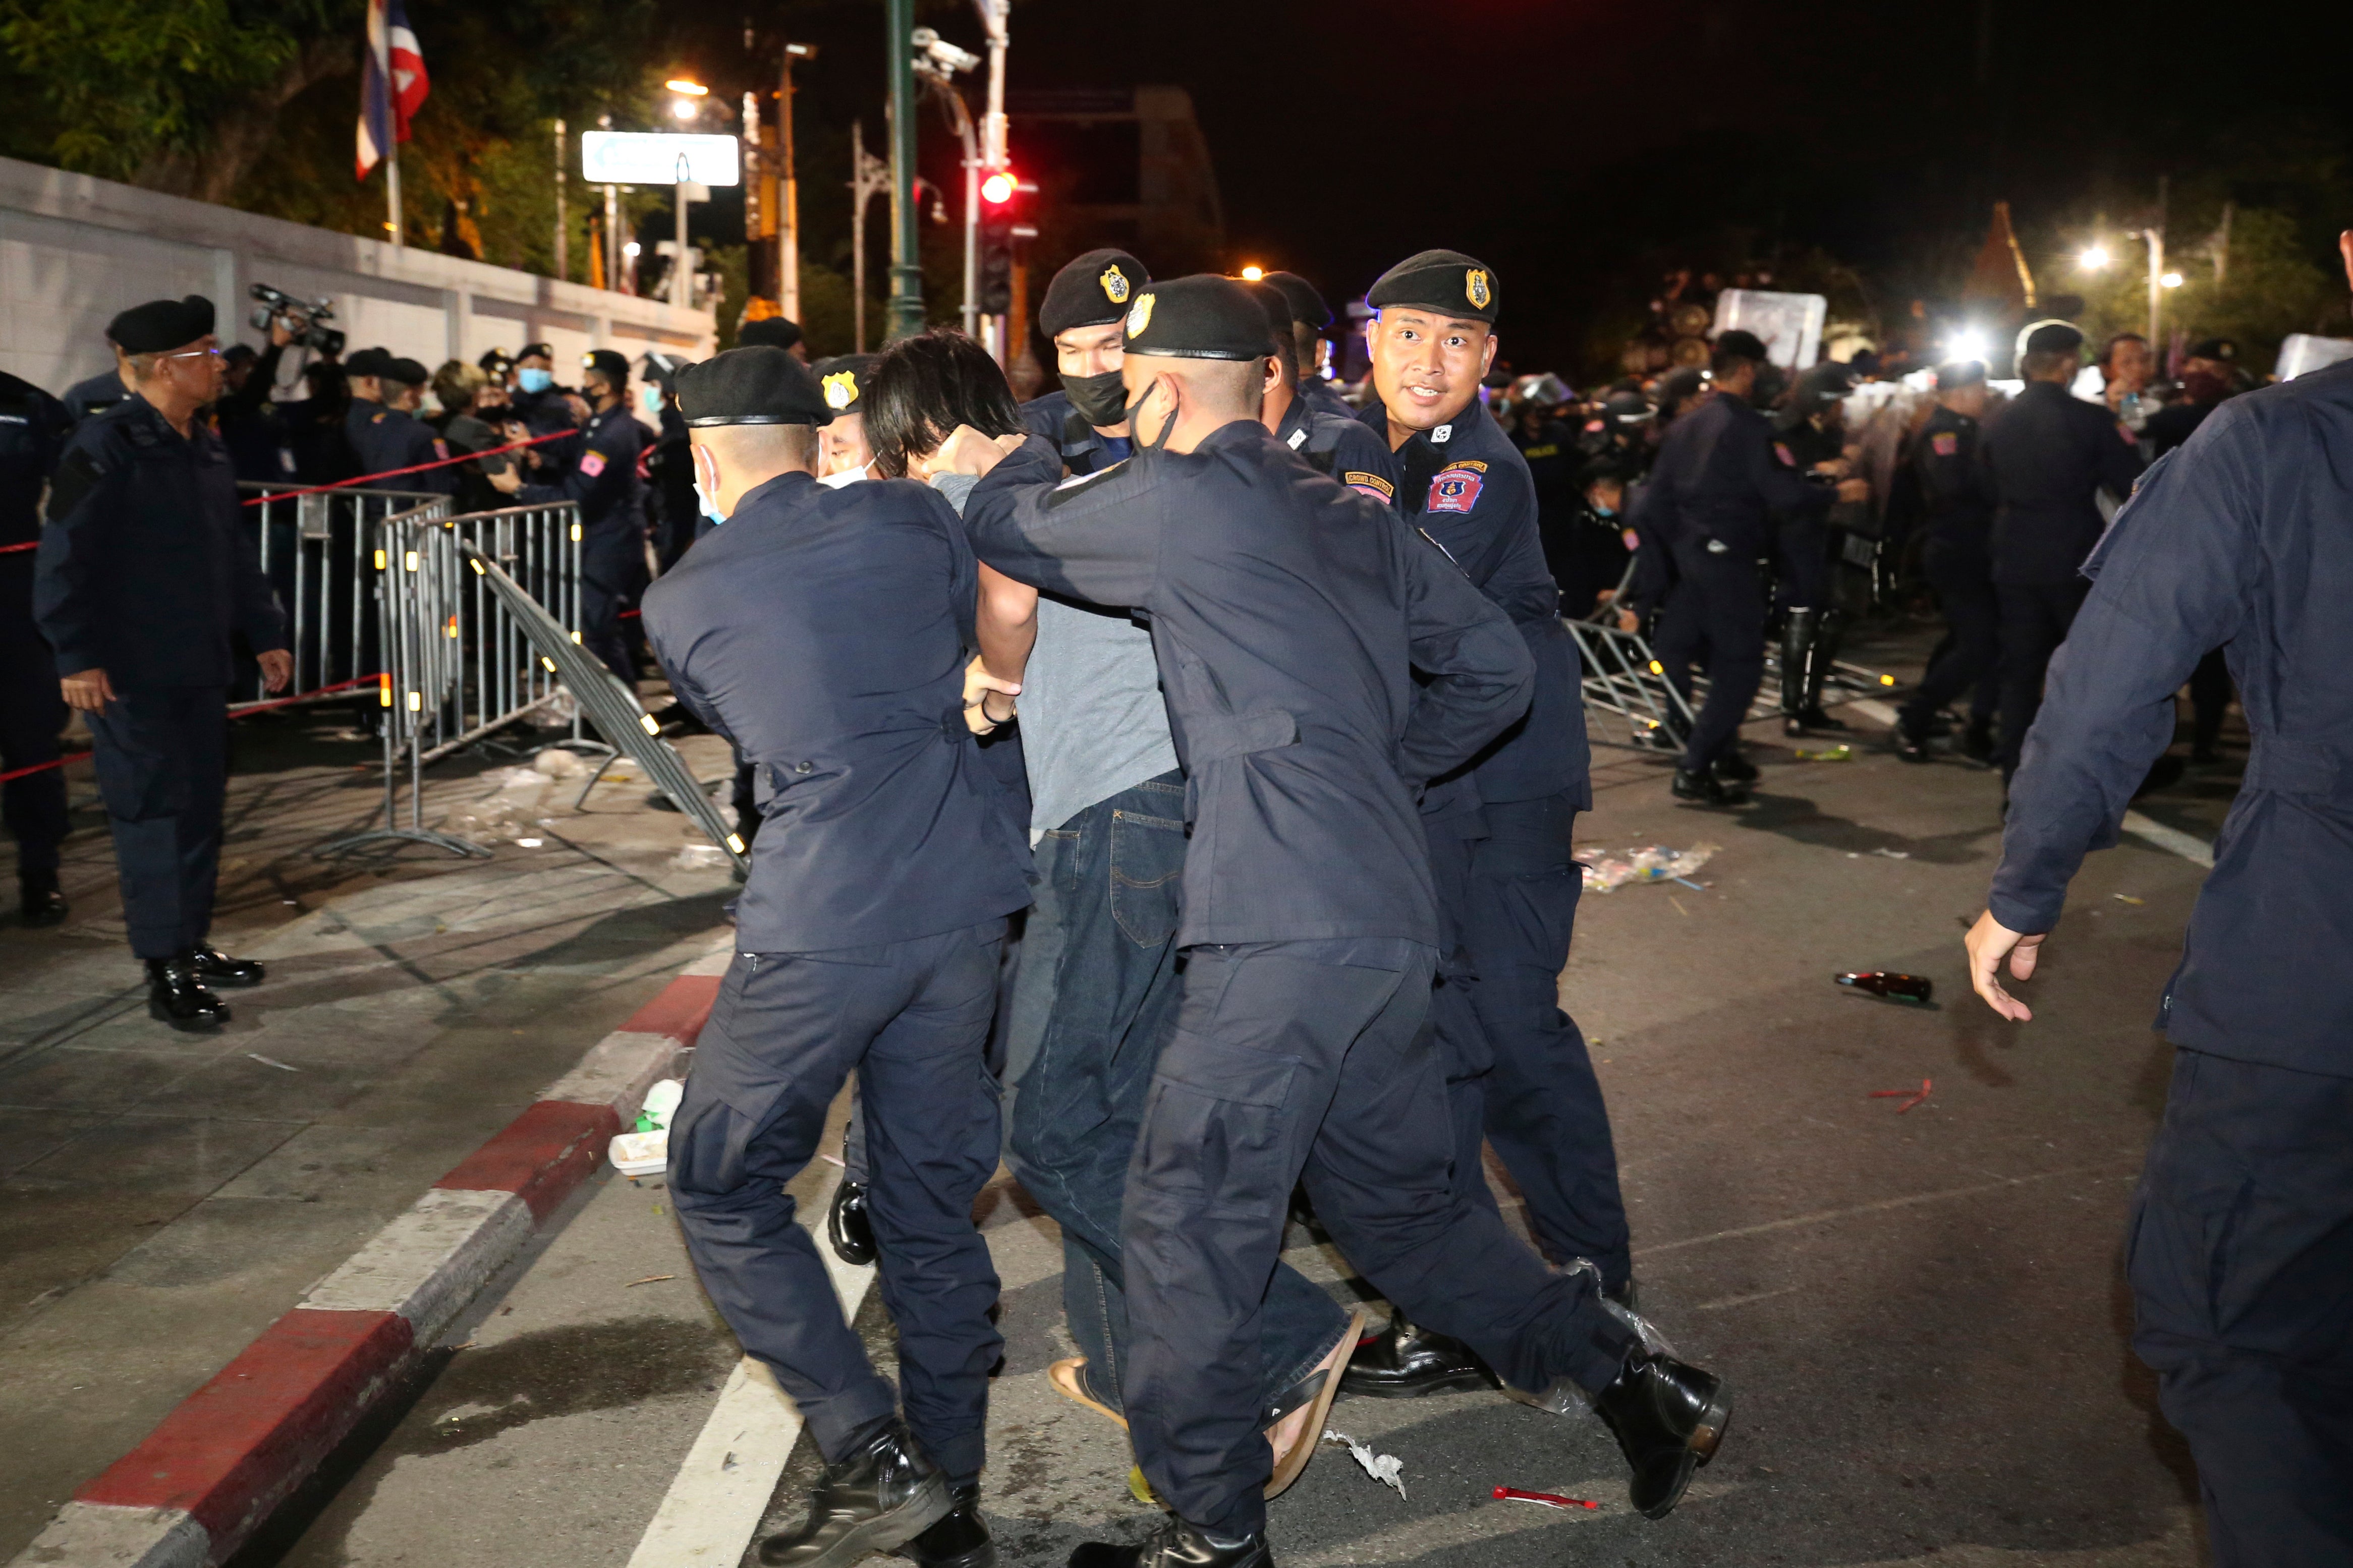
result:
[[(426, 820), (494, 858), (311, 858), (381, 809), (346, 717), (235, 731), (214, 936), (271, 980), (226, 1030), (146, 1016), (96, 811), (75, 919), (0, 929), (0, 1559), (725, 929), (727, 870), (633, 771), (574, 811), (579, 778), (449, 759)], [(680, 750), (725, 776), (725, 743)]]

